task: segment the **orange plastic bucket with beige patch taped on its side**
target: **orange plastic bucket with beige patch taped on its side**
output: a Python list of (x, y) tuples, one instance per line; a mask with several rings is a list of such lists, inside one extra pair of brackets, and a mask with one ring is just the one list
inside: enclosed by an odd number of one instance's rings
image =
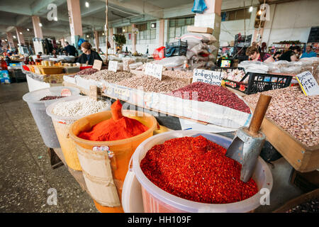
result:
[(127, 110), (123, 110), (122, 114), (135, 118), (149, 129), (124, 140), (100, 142), (77, 137), (80, 132), (89, 131), (92, 126), (112, 117), (111, 111), (103, 111), (75, 121), (69, 131), (77, 148), (86, 187), (96, 209), (103, 213), (123, 212), (121, 195), (130, 158), (138, 145), (150, 138), (157, 128), (157, 121), (150, 114)]

